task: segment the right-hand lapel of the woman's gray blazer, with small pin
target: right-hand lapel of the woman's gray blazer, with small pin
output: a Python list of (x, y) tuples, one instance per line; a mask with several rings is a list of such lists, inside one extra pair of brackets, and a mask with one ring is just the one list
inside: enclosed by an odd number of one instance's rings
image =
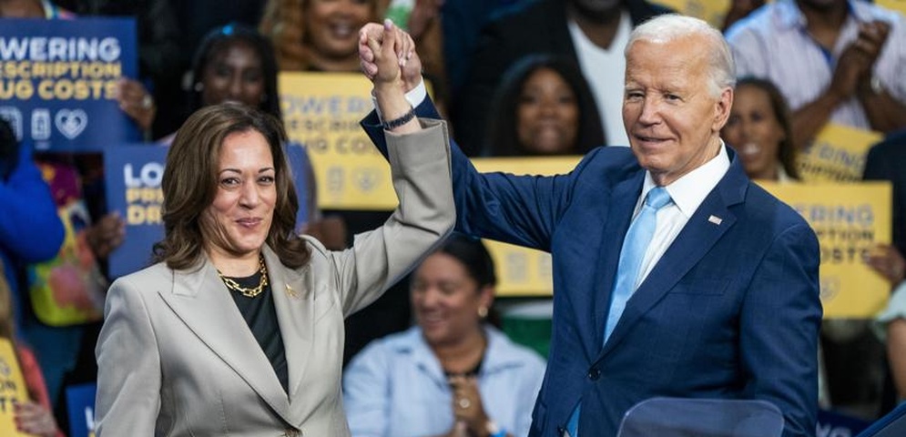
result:
[(302, 377), (308, 369), (313, 344), (314, 324), (313, 280), (310, 265), (300, 270), (287, 269), (280, 263), (277, 254), (264, 248), (264, 260), (270, 273), (270, 290), (274, 293), (274, 306), (286, 351), (286, 362), (290, 378), (290, 408), (299, 417), (301, 402), (297, 395), (301, 389)]

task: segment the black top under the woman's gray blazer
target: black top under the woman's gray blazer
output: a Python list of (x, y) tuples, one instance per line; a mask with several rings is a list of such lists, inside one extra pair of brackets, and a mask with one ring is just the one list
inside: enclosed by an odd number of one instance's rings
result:
[[(261, 283), (261, 272), (258, 271), (245, 278), (229, 277), (229, 279), (235, 280), (241, 287), (252, 289)], [(283, 349), (283, 336), (280, 335), (280, 325), (277, 322), (274, 295), (270, 292), (270, 280), (261, 294), (254, 298), (247, 298), (233, 290), (230, 290), (229, 294), (236, 302), (242, 318), (249, 324), (249, 330), (255, 336), (255, 340), (258, 340), (261, 351), (264, 351), (274, 372), (277, 373), (277, 379), (280, 380), (283, 391), (289, 393), (290, 376), (287, 371), (286, 351)]]

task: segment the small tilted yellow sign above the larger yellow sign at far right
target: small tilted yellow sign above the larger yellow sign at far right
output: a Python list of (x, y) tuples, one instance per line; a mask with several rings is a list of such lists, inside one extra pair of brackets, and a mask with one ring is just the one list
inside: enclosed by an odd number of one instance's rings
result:
[(799, 155), (799, 174), (807, 182), (852, 182), (862, 178), (865, 157), (881, 134), (828, 124)]

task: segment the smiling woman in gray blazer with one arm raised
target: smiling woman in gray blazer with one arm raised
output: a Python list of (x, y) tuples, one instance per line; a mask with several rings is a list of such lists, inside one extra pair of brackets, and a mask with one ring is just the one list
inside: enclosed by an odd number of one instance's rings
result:
[[(396, 44), (388, 32), (378, 60), (394, 65)], [(292, 232), (298, 205), (279, 121), (226, 104), (179, 129), (163, 177), (158, 263), (107, 294), (98, 436), (349, 435), (343, 319), (455, 219), (446, 127), (412, 117), (398, 69), (382, 72), (373, 92), (391, 120), (400, 206), (352, 249), (329, 251)]]

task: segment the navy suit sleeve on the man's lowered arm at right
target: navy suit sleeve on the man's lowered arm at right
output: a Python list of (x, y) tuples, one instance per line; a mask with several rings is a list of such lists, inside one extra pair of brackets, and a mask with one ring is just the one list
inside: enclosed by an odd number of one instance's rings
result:
[(805, 222), (771, 244), (746, 293), (739, 353), (744, 395), (783, 412), (783, 435), (814, 435), (818, 399), (819, 246)]

